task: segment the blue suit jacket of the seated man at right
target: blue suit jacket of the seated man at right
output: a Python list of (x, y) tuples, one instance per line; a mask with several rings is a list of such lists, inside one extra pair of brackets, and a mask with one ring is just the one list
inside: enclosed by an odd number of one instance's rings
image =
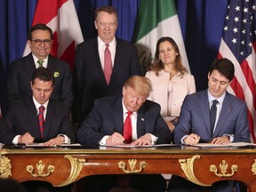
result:
[(224, 134), (234, 134), (235, 142), (250, 142), (247, 107), (243, 100), (226, 92), (220, 117), (211, 138), (208, 90), (186, 96), (180, 111), (173, 137), (175, 143), (191, 132), (200, 136), (200, 142), (208, 142)]

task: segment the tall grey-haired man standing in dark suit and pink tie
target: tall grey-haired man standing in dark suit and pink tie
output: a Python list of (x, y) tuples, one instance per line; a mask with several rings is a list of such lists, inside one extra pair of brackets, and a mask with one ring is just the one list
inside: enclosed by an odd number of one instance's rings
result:
[[(82, 119), (91, 110), (94, 100), (120, 94), (129, 76), (141, 75), (136, 46), (115, 36), (118, 25), (116, 9), (112, 6), (96, 9), (94, 25), (98, 30), (98, 37), (76, 47), (75, 99), (82, 110)], [(109, 79), (104, 76), (107, 46), (112, 65)]]

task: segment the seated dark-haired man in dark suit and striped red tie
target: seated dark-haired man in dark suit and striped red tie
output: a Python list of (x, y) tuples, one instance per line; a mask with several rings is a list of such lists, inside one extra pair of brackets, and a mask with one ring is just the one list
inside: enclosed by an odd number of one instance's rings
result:
[[(68, 116), (68, 108), (58, 100), (50, 99), (54, 88), (52, 72), (36, 68), (30, 82), (33, 96), (14, 100), (6, 116), (0, 120), (0, 142), (41, 143), (45, 146), (76, 141), (76, 132)], [(40, 130), (39, 108), (44, 106), (44, 121)]]

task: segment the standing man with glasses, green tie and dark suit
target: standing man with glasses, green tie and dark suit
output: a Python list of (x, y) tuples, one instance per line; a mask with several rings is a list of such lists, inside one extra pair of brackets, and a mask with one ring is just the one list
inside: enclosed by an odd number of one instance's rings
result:
[(12, 105), (13, 100), (30, 98), (32, 95), (30, 79), (42, 63), (44, 68), (49, 68), (54, 76), (55, 87), (51, 98), (65, 103), (69, 109), (72, 107), (73, 90), (72, 74), (68, 63), (53, 57), (52, 29), (44, 24), (36, 24), (28, 31), (28, 45), (31, 52), (12, 62), (8, 74), (8, 97)]

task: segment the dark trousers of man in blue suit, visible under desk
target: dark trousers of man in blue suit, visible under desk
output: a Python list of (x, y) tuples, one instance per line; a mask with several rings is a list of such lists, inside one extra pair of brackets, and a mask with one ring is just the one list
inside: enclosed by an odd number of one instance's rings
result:
[(234, 192), (234, 180), (221, 180), (212, 184), (212, 187), (200, 187), (180, 176), (172, 175), (168, 185), (168, 192), (198, 192), (198, 191), (211, 191), (211, 192)]

